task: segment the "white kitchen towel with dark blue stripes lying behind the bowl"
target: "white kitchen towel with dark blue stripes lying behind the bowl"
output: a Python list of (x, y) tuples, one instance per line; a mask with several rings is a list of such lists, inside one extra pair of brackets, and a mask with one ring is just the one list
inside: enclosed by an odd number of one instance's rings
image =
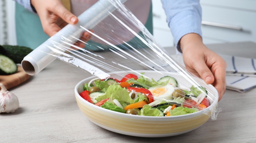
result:
[[(256, 87), (256, 59), (221, 55), (220, 56), (226, 61), (226, 89), (245, 92), (249, 89)], [(184, 66), (183, 58), (181, 55), (171, 55), (171, 57), (182, 66)], [(158, 60), (153, 60), (158, 63)], [(148, 63), (148, 65), (152, 63)], [(167, 64), (159, 63), (162, 68), (167, 68)], [(161, 68), (156, 68), (156, 70), (161, 70)], [(169, 68), (170, 69), (170, 68)]]

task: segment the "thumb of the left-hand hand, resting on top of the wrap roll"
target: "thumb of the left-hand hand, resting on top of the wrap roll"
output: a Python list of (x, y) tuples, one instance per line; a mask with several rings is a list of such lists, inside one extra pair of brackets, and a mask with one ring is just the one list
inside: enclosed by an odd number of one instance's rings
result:
[(52, 12), (69, 24), (76, 24), (78, 22), (78, 18), (68, 11), (62, 4), (56, 6)]

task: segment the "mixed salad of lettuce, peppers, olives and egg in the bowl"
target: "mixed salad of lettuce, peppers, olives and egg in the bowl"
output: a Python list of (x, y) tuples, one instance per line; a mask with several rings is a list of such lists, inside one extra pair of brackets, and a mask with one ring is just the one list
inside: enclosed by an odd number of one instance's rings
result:
[(116, 112), (141, 116), (177, 116), (203, 110), (210, 105), (204, 87), (179, 87), (171, 76), (158, 81), (129, 73), (121, 80), (93, 79), (79, 95), (86, 101)]

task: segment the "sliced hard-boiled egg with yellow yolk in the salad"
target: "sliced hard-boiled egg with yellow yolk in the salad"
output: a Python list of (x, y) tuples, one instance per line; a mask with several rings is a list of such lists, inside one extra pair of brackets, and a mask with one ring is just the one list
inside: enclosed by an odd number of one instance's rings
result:
[(157, 99), (170, 100), (170, 99), (173, 99), (172, 93), (175, 89), (173, 85), (168, 84), (165, 86), (156, 85), (156, 86), (150, 87), (148, 90), (153, 94), (154, 100), (157, 100)]

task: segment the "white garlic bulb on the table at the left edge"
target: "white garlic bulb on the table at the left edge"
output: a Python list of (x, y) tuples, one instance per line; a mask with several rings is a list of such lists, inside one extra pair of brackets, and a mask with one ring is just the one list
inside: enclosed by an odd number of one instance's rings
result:
[(0, 83), (0, 113), (13, 113), (19, 108), (19, 100), (16, 95), (7, 91), (5, 86)]

